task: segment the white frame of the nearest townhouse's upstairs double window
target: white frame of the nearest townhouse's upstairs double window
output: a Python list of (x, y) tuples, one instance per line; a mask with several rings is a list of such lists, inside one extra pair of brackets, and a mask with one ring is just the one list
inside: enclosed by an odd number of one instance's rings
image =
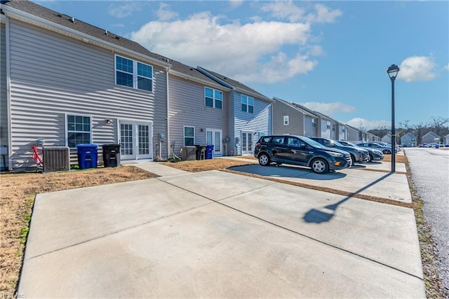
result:
[[(117, 68), (117, 58), (121, 58), (123, 60), (128, 60), (130, 62), (132, 62), (133, 66), (132, 66), (132, 72), (130, 72), (129, 70), (123, 70), (123, 69), (118, 69)], [(144, 67), (149, 67), (150, 71), (150, 76), (147, 76), (147, 74), (140, 74), (140, 70), (142, 70), (142, 67), (140, 66), (144, 66)], [(140, 68), (139, 68), (140, 67)], [(130, 85), (125, 85), (125, 84), (119, 84), (117, 82), (117, 73), (123, 73), (123, 74), (128, 74), (130, 76), (133, 76), (133, 82)], [(142, 83), (142, 79), (148, 80), (149, 84), (147, 84), (149, 86), (149, 90), (146, 88), (142, 88), (140, 87), (140, 83)], [(114, 83), (115, 85), (119, 85), (119, 86), (124, 86), (127, 88), (133, 88), (135, 90), (142, 90), (142, 91), (146, 91), (146, 92), (153, 92), (154, 90), (154, 67), (151, 64), (146, 64), (144, 62), (140, 62), (138, 60), (133, 60), (130, 59), (128, 57), (124, 57), (121, 55), (114, 55)]]

